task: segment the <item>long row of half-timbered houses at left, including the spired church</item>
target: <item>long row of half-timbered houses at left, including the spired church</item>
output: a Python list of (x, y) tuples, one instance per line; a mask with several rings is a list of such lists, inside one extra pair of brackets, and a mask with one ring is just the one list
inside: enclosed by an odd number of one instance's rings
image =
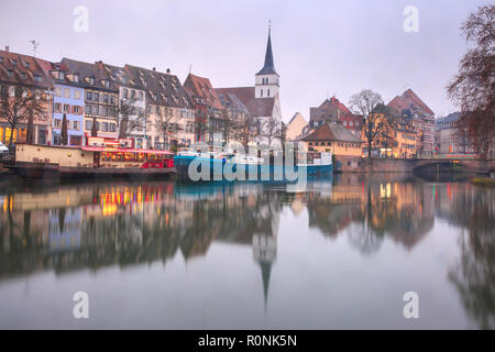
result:
[[(35, 94), (42, 111), (33, 113), (30, 127), (30, 119), (12, 123), (0, 109), (0, 142), (25, 142), (32, 129), (30, 142), (36, 144), (82, 145), (96, 138), (125, 139), (136, 148), (163, 150), (174, 143), (187, 147), (197, 141), (227, 142), (235, 136), (228, 130), (232, 120), (249, 116), (256, 122), (250, 142), (261, 143), (266, 120), (282, 125), (278, 90), (270, 32), (265, 64), (254, 87), (235, 88), (213, 88), (208, 78), (193, 74), (182, 84), (169, 69), (72, 58), (52, 63), (6, 47), (0, 51), (2, 107)], [(129, 107), (127, 119), (123, 107)]]

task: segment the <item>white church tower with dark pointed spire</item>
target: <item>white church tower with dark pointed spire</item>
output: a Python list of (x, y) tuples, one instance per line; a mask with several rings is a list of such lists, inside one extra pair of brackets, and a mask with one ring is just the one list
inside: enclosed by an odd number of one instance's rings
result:
[(268, 44), (266, 45), (265, 65), (255, 75), (255, 98), (273, 98), (278, 94), (280, 76), (275, 70), (272, 53), (272, 26), (268, 28)]

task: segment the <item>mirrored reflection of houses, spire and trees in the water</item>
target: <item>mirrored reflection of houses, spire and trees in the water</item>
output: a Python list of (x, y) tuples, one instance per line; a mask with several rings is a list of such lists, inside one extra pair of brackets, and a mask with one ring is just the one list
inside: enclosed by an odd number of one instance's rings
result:
[(251, 246), (266, 310), (284, 209), (307, 215), (302, 229), (331, 241), (345, 235), (365, 256), (377, 255), (386, 240), (410, 252), (441, 220), (465, 230), (449, 279), (480, 327), (494, 328), (495, 193), (465, 183), (355, 174), (305, 190), (169, 182), (9, 187), (0, 194), (0, 285), (45, 271), (165, 265), (177, 254), (189, 261), (218, 242)]

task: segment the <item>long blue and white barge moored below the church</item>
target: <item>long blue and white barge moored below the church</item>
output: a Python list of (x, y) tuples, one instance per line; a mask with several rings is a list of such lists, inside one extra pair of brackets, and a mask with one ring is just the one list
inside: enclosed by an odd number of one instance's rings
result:
[(306, 163), (287, 164), (282, 157), (265, 160), (239, 153), (186, 151), (174, 157), (174, 165), (180, 178), (194, 182), (296, 182), (301, 174), (306, 177), (329, 177), (333, 168), (331, 153), (323, 152), (308, 152)]

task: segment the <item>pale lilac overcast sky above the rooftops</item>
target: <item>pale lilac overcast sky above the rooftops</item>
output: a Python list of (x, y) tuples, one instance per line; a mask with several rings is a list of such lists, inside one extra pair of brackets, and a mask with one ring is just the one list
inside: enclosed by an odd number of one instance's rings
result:
[[(29, 3), (29, 4), (26, 4)], [(283, 117), (327, 95), (348, 103), (371, 88), (388, 102), (414, 89), (437, 117), (455, 110), (446, 85), (466, 51), (460, 25), (477, 0), (0, 0), (0, 46), (38, 57), (103, 61), (165, 72), (191, 72), (213, 87), (254, 85), (272, 19)], [(88, 32), (74, 31), (77, 6), (89, 10)], [(419, 32), (403, 29), (406, 6), (419, 11)]]

